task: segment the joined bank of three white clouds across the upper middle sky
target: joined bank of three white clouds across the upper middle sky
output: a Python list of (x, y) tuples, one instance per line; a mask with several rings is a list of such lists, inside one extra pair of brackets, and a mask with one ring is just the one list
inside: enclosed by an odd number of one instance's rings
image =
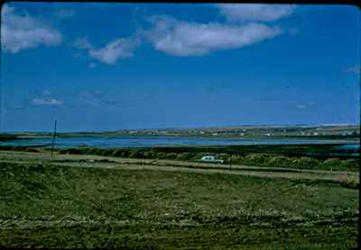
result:
[(145, 18), (150, 26), (135, 31), (131, 37), (116, 38), (100, 48), (82, 38), (76, 40), (74, 47), (86, 50), (88, 57), (107, 65), (134, 57), (134, 50), (141, 42), (151, 43), (153, 49), (174, 57), (200, 57), (219, 50), (240, 49), (281, 35), (282, 28), (264, 22), (282, 19), (295, 9), (295, 5), (290, 4), (215, 6), (227, 22), (189, 22), (168, 15), (153, 15)]

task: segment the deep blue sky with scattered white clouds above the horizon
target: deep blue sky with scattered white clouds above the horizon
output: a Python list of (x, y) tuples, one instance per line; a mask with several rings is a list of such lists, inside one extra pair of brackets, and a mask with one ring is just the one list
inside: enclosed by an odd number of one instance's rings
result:
[(350, 5), (2, 7), (3, 131), (359, 123)]

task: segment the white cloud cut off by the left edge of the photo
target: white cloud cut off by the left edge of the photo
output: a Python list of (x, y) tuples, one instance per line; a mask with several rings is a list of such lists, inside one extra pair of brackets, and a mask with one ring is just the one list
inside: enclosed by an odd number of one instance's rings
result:
[(14, 7), (5, 4), (2, 8), (2, 48), (11, 53), (41, 45), (55, 46), (62, 38), (60, 31), (47, 27), (29, 14), (14, 13)]

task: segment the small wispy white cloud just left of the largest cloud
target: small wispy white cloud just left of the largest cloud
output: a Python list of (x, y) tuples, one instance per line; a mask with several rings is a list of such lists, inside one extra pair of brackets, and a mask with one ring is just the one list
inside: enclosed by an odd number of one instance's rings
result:
[(91, 58), (106, 64), (115, 64), (119, 58), (134, 57), (134, 49), (139, 45), (137, 38), (118, 38), (106, 44), (105, 47), (96, 49), (87, 38), (78, 39), (74, 43), (77, 49), (87, 49)]

